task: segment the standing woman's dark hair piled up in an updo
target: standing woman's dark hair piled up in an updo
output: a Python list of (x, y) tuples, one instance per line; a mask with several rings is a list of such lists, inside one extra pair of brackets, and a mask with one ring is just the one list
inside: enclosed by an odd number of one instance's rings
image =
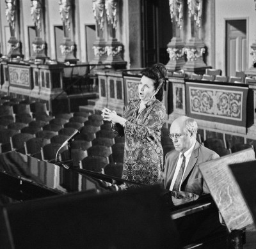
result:
[(156, 99), (163, 100), (164, 90), (166, 90), (166, 68), (162, 63), (156, 63), (150, 68), (145, 68), (141, 74), (154, 80), (154, 88), (158, 89)]

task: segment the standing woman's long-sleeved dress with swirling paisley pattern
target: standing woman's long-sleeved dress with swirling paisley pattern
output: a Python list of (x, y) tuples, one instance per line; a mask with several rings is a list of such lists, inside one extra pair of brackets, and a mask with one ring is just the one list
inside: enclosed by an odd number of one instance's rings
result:
[(150, 100), (138, 114), (139, 106), (140, 100), (132, 100), (124, 110), (127, 119), (124, 127), (116, 123), (113, 131), (119, 136), (125, 135), (122, 179), (153, 185), (163, 170), (160, 136), (165, 107), (159, 100)]

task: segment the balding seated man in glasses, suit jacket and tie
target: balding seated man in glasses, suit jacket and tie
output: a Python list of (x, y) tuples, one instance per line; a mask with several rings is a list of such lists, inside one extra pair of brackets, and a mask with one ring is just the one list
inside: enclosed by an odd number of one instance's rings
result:
[(166, 190), (196, 195), (209, 193), (198, 165), (220, 156), (199, 144), (196, 133), (197, 124), (194, 119), (180, 116), (173, 121), (170, 138), (175, 150), (166, 154), (162, 176)]

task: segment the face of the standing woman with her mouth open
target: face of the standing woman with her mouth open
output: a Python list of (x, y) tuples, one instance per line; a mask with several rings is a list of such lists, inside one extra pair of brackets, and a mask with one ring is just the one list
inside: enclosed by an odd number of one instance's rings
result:
[(140, 80), (138, 91), (139, 91), (140, 100), (143, 100), (143, 101), (150, 100), (152, 95), (156, 94), (156, 91), (154, 88), (154, 80), (143, 75)]

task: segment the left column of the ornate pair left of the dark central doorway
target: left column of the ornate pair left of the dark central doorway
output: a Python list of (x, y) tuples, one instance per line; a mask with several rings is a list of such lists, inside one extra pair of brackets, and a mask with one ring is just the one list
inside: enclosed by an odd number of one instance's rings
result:
[(106, 60), (106, 40), (104, 39), (104, 20), (106, 16), (106, 11), (104, 8), (105, 0), (93, 0), (92, 10), (96, 22), (97, 36), (93, 43), (93, 53), (94, 59), (91, 63), (102, 63)]

